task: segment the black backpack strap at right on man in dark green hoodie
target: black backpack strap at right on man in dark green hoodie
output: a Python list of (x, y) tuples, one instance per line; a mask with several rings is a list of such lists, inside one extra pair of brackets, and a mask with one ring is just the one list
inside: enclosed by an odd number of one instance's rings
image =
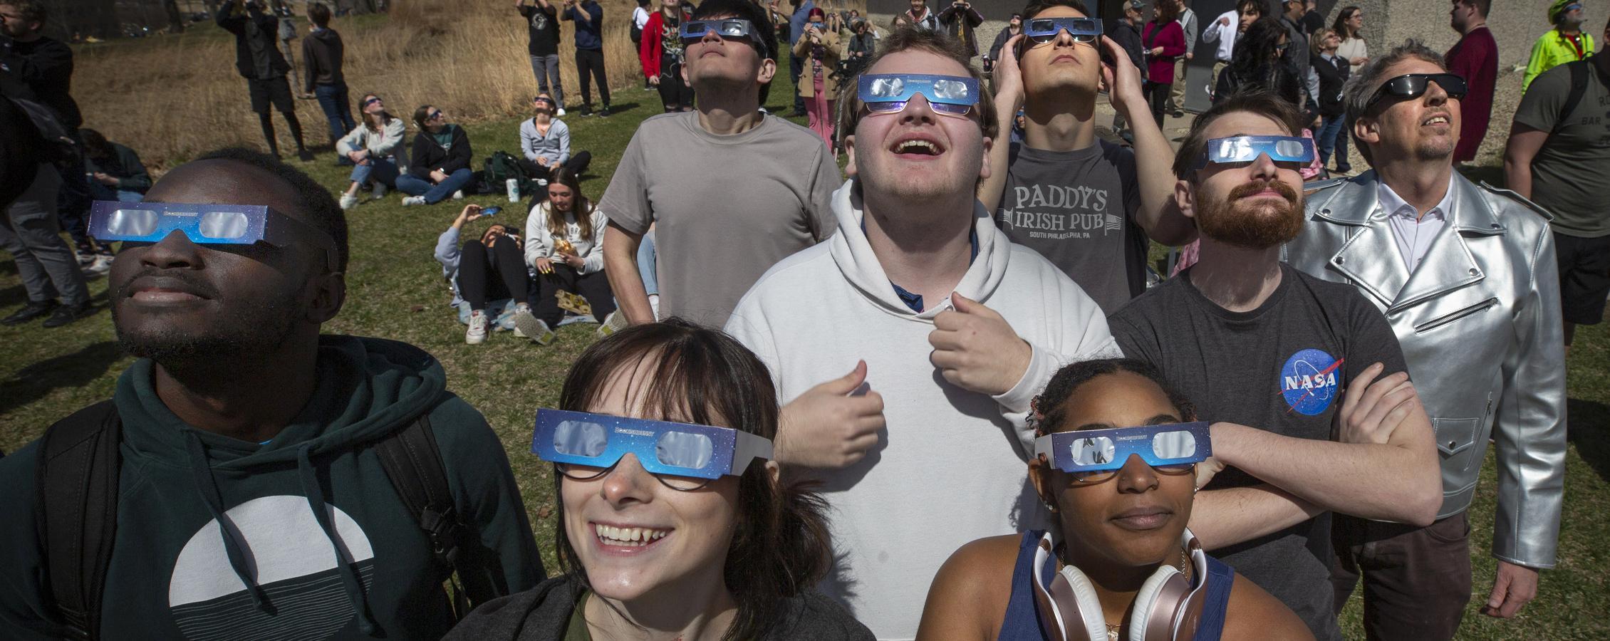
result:
[(448, 470), (430, 428), (430, 412), (375, 443), (375, 454), (402, 506), (430, 538), (431, 554), (441, 565), (457, 570), (452, 581), (456, 617), (464, 618), (473, 604), (496, 598), (486, 577), (472, 570), (475, 554), (469, 551), (472, 546), (464, 544), (470, 527), (454, 507)]

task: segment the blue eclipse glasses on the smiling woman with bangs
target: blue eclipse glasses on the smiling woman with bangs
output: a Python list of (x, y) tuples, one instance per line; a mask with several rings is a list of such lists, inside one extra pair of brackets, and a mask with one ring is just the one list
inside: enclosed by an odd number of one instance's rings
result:
[(538, 409), (531, 453), (573, 480), (602, 477), (628, 453), (671, 490), (699, 490), (771, 461), (771, 440), (729, 427), (673, 424), (607, 414)]

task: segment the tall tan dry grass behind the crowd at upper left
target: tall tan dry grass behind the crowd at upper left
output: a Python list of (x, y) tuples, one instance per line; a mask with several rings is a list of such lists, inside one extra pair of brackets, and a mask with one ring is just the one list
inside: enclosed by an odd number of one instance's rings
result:
[[(638, 5), (601, 3), (610, 85), (641, 84), (638, 52), (626, 34)], [(306, 31), (304, 5), (296, 10), (296, 24)], [(565, 100), (576, 105), (581, 92), (570, 55), (575, 23), (559, 24)], [(138, 150), (153, 169), (217, 147), (262, 147), (246, 82), (235, 71), (233, 37), (209, 23), (198, 27), (184, 35), (77, 45), (72, 93), (84, 110), (84, 126)], [(454, 121), (480, 122), (526, 113), (536, 93), (525, 19), (512, 0), (394, 0), (390, 18), (335, 18), (330, 27), (346, 48), (343, 72), (354, 114), (364, 93), (377, 93), (393, 116), (404, 119), (430, 103)], [(291, 50), (299, 64), (299, 39), (291, 40)], [(299, 90), (299, 82), (291, 82)], [(592, 100), (597, 105), (596, 87)], [(319, 103), (298, 100), (296, 116), (308, 145), (333, 143)], [(274, 122), (280, 150), (290, 153), (285, 121), (274, 116)]]

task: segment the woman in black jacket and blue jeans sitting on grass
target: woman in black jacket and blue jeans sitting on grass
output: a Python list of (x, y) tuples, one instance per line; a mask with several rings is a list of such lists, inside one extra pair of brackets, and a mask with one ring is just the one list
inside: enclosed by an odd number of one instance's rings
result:
[(436, 205), (448, 196), (464, 198), (464, 187), (475, 180), (470, 171), (470, 137), (464, 127), (448, 122), (448, 114), (425, 105), (414, 110), (414, 164), (398, 176), (398, 192), (407, 193), (402, 205)]

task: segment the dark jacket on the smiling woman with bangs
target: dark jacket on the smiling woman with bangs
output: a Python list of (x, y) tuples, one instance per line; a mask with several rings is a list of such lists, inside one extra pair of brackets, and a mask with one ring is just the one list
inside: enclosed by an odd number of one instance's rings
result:
[[(523, 593), (488, 601), (441, 641), (560, 641), (576, 610), (576, 588), (568, 575), (554, 577)], [(811, 588), (789, 599), (771, 635), (757, 641), (873, 641), (873, 633), (844, 606)]]

